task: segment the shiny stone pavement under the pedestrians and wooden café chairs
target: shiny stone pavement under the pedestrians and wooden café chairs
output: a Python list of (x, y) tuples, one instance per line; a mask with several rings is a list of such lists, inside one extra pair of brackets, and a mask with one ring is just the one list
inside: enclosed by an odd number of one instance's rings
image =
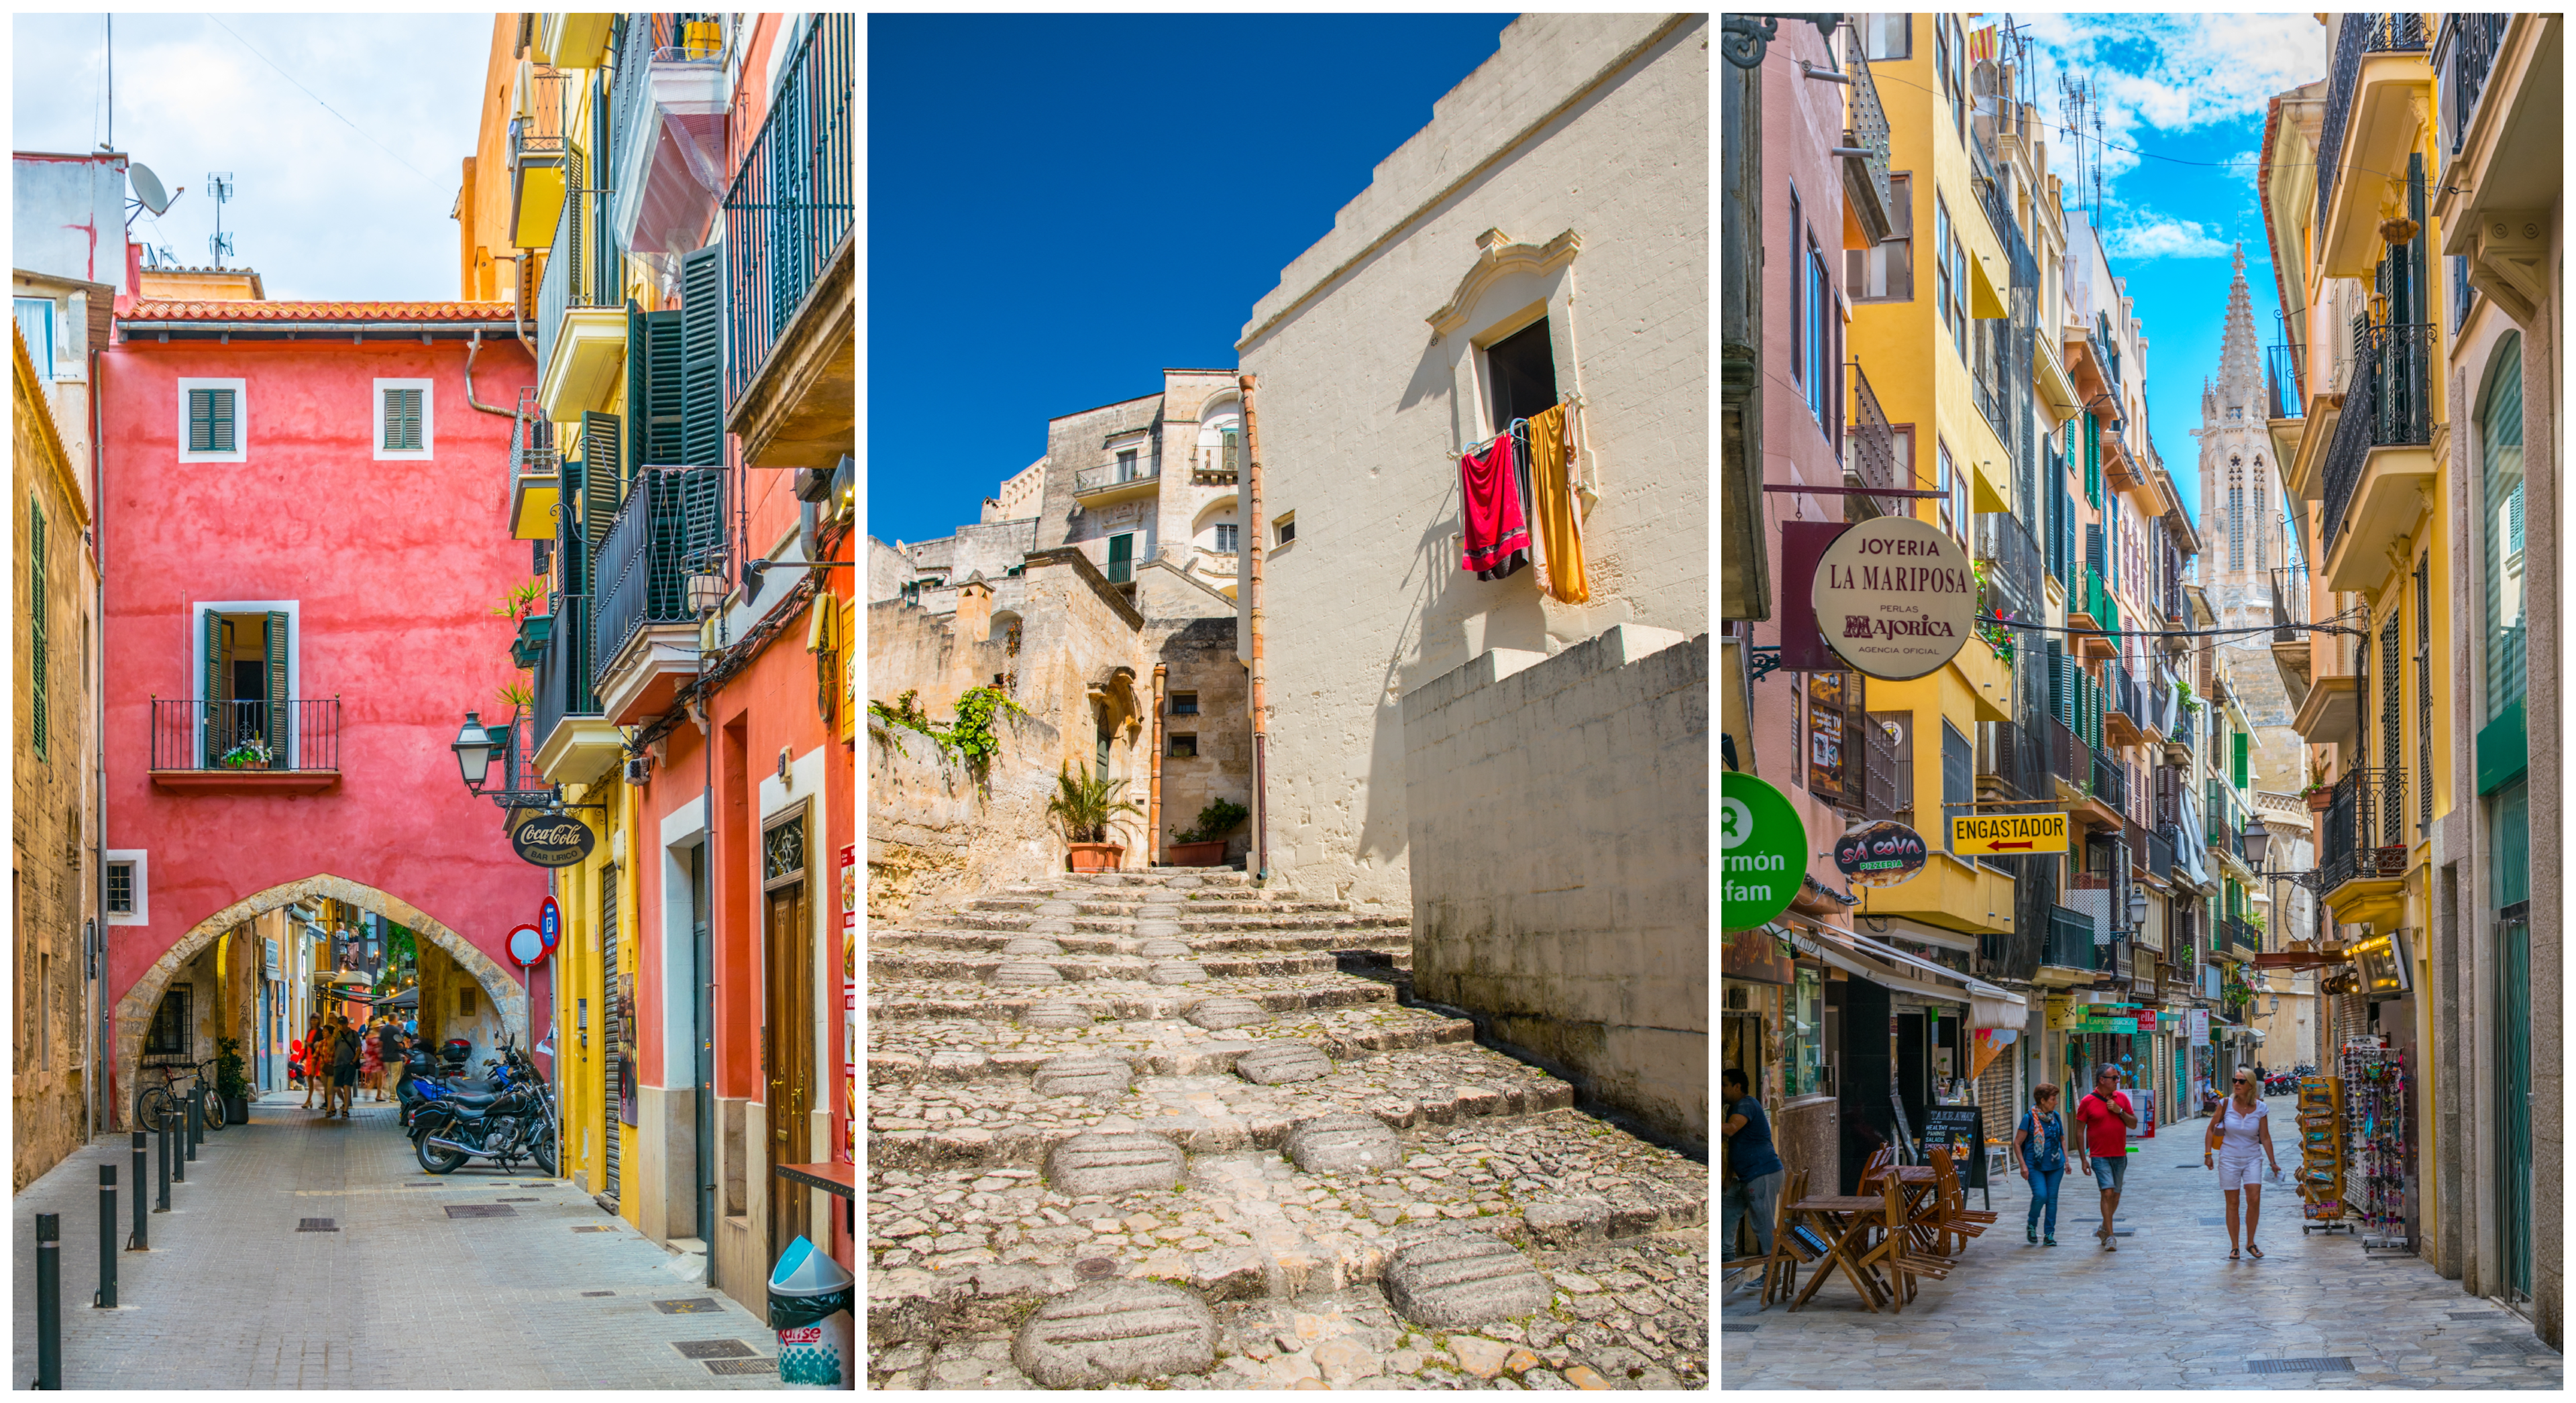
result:
[[(2272, 1122), (2290, 1125), (2287, 1097)], [(2262, 1261), (2228, 1261), (2226, 1202), (2200, 1169), (2205, 1120), (2164, 1128), (2130, 1156), (2115, 1228), (2069, 1161), (2058, 1246), (2027, 1246), (2030, 1189), (1996, 1179), (1999, 1223), (1947, 1282), (1904, 1313), (1870, 1313), (1837, 1272), (1798, 1313), (1759, 1310), (1759, 1277), (1721, 1285), (1726, 1388), (2561, 1388), (2532, 1326), (2414, 1256), (2365, 1254), (2352, 1233), (2300, 1233), (2295, 1194), (2264, 1192)], [(2277, 1135), (2277, 1133), (2275, 1133)], [(2280, 1140), (2275, 1140), (2280, 1143)], [(2280, 1143), (2290, 1164), (2287, 1143)], [(2190, 1169), (2182, 1169), (2190, 1164)], [(1971, 1207), (1984, 1207), (1968, 1192)], [(1806, 1290), (1801, 1272), (1798, 1287)], [(2251, 1372), (2259, 1359), (2349, 1359), (2352, 1370)]]

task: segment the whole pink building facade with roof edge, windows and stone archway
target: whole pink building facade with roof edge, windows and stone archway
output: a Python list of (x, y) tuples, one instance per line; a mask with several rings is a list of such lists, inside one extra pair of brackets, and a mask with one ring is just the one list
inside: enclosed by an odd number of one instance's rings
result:
[[(415, 929), (526, 1048), (505, 937), (546, 870), (448, 749), (518, 682), (495, 608), (531, 548), (489, 530), (513, 420), (477, 407), (536, 378), (510, 306), (121, 304), (100, 366), (108, 862), (131, 883), (111, 880), (113, 1102), (173, 976), (317, 898)], [(541, 1035), (544, 968), (533, 996)]]

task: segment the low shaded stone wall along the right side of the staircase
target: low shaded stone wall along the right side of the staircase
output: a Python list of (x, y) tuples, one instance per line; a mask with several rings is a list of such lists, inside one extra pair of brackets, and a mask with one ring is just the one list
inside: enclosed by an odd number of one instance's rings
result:
[(1414, 989), (1708, 1143), (1708, 636), (1489, 651), (1404, 698)]

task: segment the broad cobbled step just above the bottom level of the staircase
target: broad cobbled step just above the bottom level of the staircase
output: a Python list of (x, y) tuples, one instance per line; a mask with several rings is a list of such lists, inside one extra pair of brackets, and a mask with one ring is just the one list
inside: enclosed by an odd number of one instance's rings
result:
[[(1391, 1140), (1386, 1158), (1340, 1171), (1247, 1148), (1188, 1153), (1175, 1140), (1157, 1151), (1141, 1133), (1038, 1166), (876, 1158), (871, 1346), (1007, 1331), (1087, 1282), (1167, 1282), (1200, 1303), (1296, 1300), (1368, 1287), (1391, 1264), (1386, 1300), (1425, 1331), (1484, 1328), (1497, 1313), (1520, 1315), (1525, 1328), (1592, 1321), (1602, 1313), (1566, 1297), (1633, 1290), (1643, 1300), (1651, 1277), (1633, 1287), (1551, 1279), (1533, 1297), (1528, 1254), (1600, 1254), (1708, 1220), (1705, 1166), (1571, 1110), (1412, 1128)], [(1705, 1331), (1705, 1267), (1682, 1290), (1698, 1292)], [(1656, 1305), (1677, 1305), (1687, 1321), (1687, 1300)], [(1705, 1362), (1705, 1339), (1698, 1357)]]

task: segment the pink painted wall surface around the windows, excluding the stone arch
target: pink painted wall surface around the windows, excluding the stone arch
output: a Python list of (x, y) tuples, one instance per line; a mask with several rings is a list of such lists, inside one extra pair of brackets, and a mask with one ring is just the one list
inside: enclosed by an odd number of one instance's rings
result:
[[(399, 314), (399, 311), (397, 311)], [(111, 999), (209, 914), (309, 875), (399, 896), (507, 963), (546, 873), (456, 777), (466, 711), (507, 716), (528, 579), (502, 525), (510, 420), (466, 407), (464, 342), (134, 340), (106, 353), (108, 847), (149, 852), (144, 927), (111, 929)], [(178, 461), (178, 378), (245, 378), (245, 463)], [(433, 461), (371, 451), (379, 376), (435, 381)], [(515, 404), (531, 358), (484, 342), (474, 389)], [(340, 698), (340, 788), (178, 795), (149, 780), (149, 698), (193, 698), (193, 605), (296, 600), (301, 698)]]

